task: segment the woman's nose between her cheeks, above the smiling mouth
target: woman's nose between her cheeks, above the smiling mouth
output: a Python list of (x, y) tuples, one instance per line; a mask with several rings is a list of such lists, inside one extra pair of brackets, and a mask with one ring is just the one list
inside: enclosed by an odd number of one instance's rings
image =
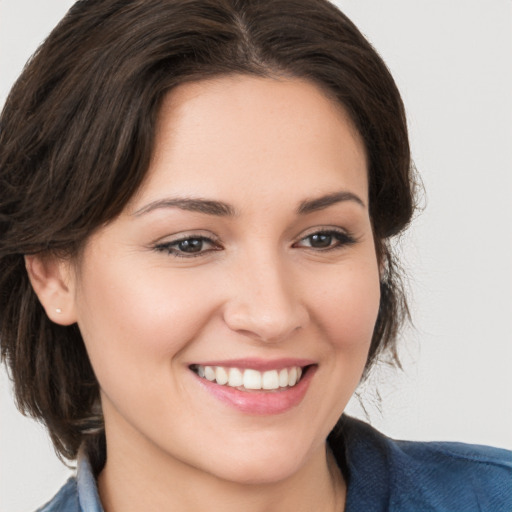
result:
[(245, 258), (231, 276), (225, 304), (228, 327), (255, 340), (277, 343), (309, 321), (291, 269), (268, 254)]

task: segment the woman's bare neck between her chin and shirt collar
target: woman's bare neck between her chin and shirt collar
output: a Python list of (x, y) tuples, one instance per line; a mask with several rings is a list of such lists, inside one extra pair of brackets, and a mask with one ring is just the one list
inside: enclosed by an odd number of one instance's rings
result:
[(263, 484), (226, 481), (146, 448), (134, 453), (129, 446), (107, 442), (107, 462), (98, 477), (105, 512), (344, 509), (345, 482), (327, 445), (289, 477)]

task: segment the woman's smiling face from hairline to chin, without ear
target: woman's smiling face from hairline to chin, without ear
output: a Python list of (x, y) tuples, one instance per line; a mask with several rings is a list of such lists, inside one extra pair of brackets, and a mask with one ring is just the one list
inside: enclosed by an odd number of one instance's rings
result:
[(377, 317), (362, 141), (308, 82), (180, 86), (73, 276), (109, 458), (282, 480), (325, 454)]

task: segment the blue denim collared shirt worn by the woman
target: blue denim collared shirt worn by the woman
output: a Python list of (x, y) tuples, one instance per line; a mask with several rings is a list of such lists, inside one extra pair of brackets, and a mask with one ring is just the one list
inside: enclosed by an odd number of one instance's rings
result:
[[(349, 417), (329, 444), (348, 483), (345, 512), (512, 511), (508, 450), (394, 441)], [(86, 456), (78, 458), (77, 476), (38, 512), (103, 512)]]

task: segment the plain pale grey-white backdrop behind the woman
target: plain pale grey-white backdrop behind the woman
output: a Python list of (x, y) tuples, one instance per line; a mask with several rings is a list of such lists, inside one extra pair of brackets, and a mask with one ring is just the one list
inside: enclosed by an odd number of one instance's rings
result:
[[(0, 0), (0, 105), (71, 4)], [(370, 420), (397, 438), (512, 448), (512, 2), (337, 4), (398, 83), (426, 189), (401, 244), (415, 327), (404, 371), (362, 389)], [(0, 510), (33, 510), (71, 470), (16, 411), (3, 370), (0, 382)], [(349, 411), (364, 418), (357, 401)]]

